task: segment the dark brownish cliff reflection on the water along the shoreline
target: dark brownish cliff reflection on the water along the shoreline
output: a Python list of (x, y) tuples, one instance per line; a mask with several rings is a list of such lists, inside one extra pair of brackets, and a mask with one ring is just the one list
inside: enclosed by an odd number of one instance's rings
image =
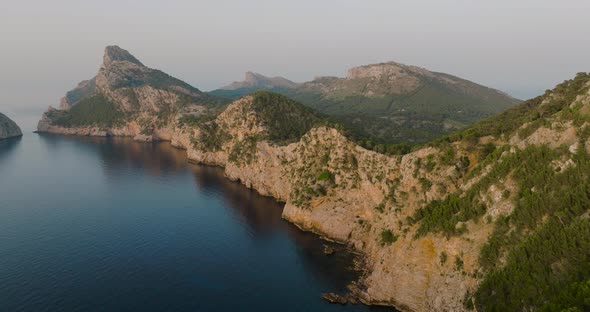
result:
[[(261, 196), (240, 183), (228, 180), (222, 168), (190, 164), (186, 152), (174, 148), (168, 142), (140, 143), (129, 138), (66, 137), (51, 134), (40, 136), (49, 149), (73, 145), (81, 152), (94, 157), (98, 155), (106, 176), (125, 174), (124, 172), (129, 169), (142, 170), (153, 176), (191, 174), (195, 187), (207, 192), (220, 193), (220, 197), (226, 202), (223, 206), (249, 228), (253, 240), (264, 241), (271, 240), (277, 235), (287, 236), (296, 246), (296, 254), (301, 265), (323, 284), (328, 285), (324, 290), (326, 292), (343, 293), (346, 286), (359, 277), (359, 272), (352, 268), (355, 256), (346, 247), (324, 241), (317, 235), (304, 232), (283, 220), (283, 204), (271, 197)], [(12, 142), (12, 149), (16, 145), (18, 141)], [(325, 254), (326, 245), (333, 248), (335, 253)], [(321, 294), (317, 295), (319, 297)], [(392, 311), (378, 307), (372, 307), (371, 310)]]

